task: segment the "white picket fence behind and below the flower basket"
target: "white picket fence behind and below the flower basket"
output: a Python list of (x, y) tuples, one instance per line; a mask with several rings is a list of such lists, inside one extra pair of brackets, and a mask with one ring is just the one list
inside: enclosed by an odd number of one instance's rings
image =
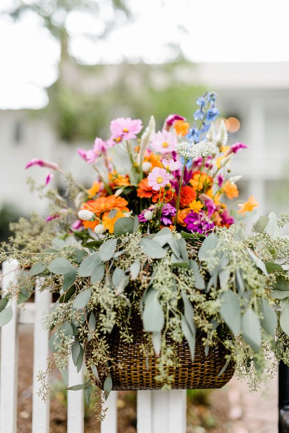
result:
[[(14, 278), (17, 262), (3, 263), (2, 289), (5, 293)], [(44, 403), (37, 395), (37, 374), (46, 369), (49, 354), (49, 332), (42, 328), (43, 313), (49, 311), (51, 294), (35, 290), (34, 303), (20, 309), (12, 303), (13, 318), (1, 328), (0, 351), (0, 432), (16, 433), (17, 414), (17, 360), (19, 324), (34, 324), (32, 433), (49, 433), (49, 401)], [(68, 386), (83, 383), (72, 358), (68, 364)], [(137, 391), (137, 433), (185, 433), (186, 391)], [(101, 433), (117, 433), (117, 391), (106, 401), (107, 414), (101, 423)], [(67, 433), (84, 432), (83, 391), (67, 391)]]

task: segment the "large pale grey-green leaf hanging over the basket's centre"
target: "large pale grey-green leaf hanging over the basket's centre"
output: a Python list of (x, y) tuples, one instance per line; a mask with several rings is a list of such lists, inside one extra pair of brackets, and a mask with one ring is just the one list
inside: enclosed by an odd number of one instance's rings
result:
[(165, 323), (165, 316), (157, 299), (157, 292), (149, 290), (145, 297), (145, 308), (142, 313), (143, 330), (160, 332)]

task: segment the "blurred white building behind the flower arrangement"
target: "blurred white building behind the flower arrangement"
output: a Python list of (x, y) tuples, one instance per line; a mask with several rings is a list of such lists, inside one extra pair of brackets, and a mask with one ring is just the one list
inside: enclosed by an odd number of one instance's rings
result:
[[(118, 67), (121, 65), (107, 68), (113, 68), (117, 75)], [(152, 68), (154, 72), (159, 70), (156, 80), (161, 80), (161, 66)], [(101, 80), (103, 86), (104, 77), (96, 76), (92, 85), (97, 87)], [(289, 211), (289, 63), (180, 65), (177, 79), (213, 89), (218, 93), (222, 116), (240, 121), (238, 132), (229, 134), (230, 144), (242, 141), (250, 147), (240, 152), (231, 165), (232, 174), (243, 176), (240, 198), (247, 199), (250, 194), (258, 197), (261, 214)], [(113, 85), (112, 75), (107, 80)], [(45, 213), (45, 203), (32, 195), (25, 183), (28, 175), (44, 183), (46, 169), (33, 167), (29, 173), (24, 170), (33, 157), (56, 161), (87, 185), (91, 182), (92, 171), (76, 149), (89, 149), (92, 144), (60, 142), (45, 115), (31, 116), (25, 110), (0, 111), (0, 131), (0, 207), (6, 202), (24, 214), (31, 210)], [(54, 182), (60, 185), (60, 179)]]

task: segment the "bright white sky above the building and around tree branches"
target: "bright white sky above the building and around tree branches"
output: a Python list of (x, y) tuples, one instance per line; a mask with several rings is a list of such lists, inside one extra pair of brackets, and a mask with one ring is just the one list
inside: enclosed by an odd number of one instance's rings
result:
[[(17, 0), (0, 1), (4, 10)], [(98, 2), (98, 15), (74, 12), (66, 20), (70, 52), (84, 64), (124, 57), (162, 63), (173, 59), (170, 43), (194, 62), (289, 61), (285, 0), (128, 0), (134, 21), (124, 25), (120, 15), (104, 40), (87, 38), (97, 37), (112, 13)], [(58, 43), (31, 13), (16, 24), (0, 15), (0, 41), (0, 109), (45, 106), (43, 87), (57, 79)]]

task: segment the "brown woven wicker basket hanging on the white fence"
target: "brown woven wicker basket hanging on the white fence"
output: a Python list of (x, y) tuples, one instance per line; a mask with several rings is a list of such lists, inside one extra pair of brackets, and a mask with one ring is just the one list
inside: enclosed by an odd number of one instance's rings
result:
[[(153, 355), (146, 359), (140, 350), (141, 345), (146, 343), (141, 320), (138, 317), (132, 320), (131, 327), (134, 335), (133, 343), (123, 342), (117, 329), (114, 329), (111, 334), (111, 356), (115, 363), (122, 367), (111, 371), (113, 389), (160, 389), (161, 384), (154, 380), (158, 374), (157, 357)], [(225, 364), (225, 355), (228, 353), (226, 348), (220, 343), (211, 347), (206, 356), (201, 340), (201, 334), (197, 334), (193, 362), (187, 341), (183, 340), (182, 344), (177, 345), (179, 366), (168, 369), (168, 373), (174, 375), (173, 389), (222, 388), (233, 376), (233, 363), (229, 363), (223, 374), (218, 376)], [(167, 340), (167, 345), (170, 343)], [(86, 356), (89, 357), (90, 352), (91, 348), (87, 345)]]

